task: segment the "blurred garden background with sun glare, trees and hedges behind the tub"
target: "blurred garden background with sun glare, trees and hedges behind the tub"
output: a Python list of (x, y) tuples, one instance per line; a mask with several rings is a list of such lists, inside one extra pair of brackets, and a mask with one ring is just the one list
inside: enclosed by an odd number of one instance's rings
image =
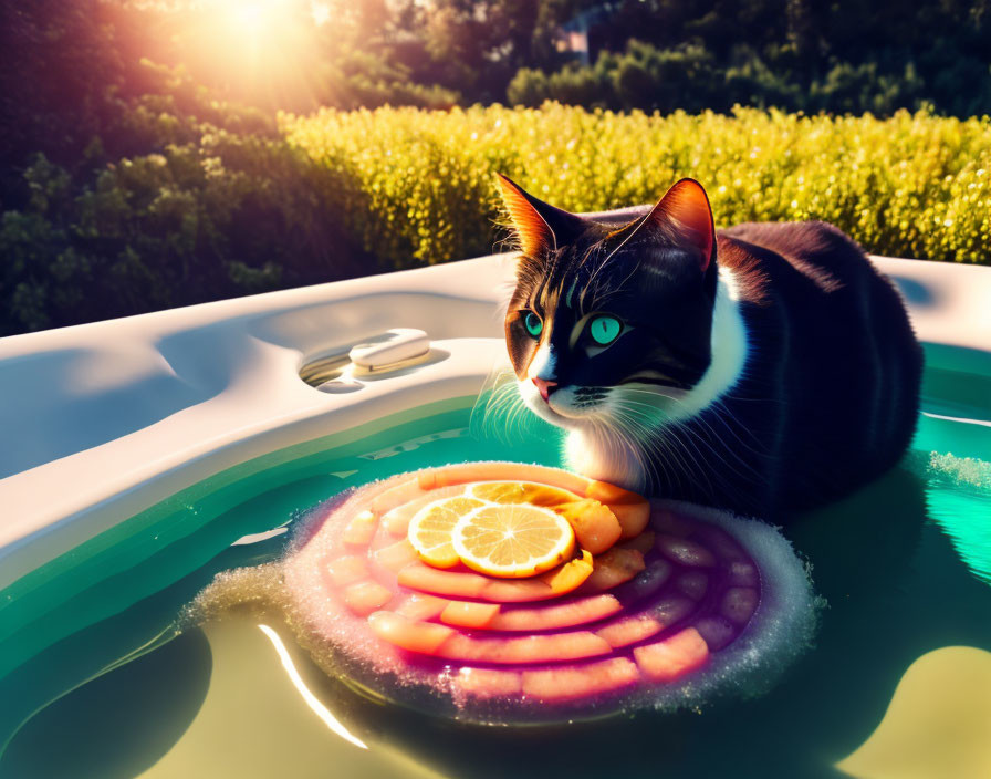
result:
[(497, 248), (707, 187), (991, 261), (991, 0), (2, 0), (0, 335)]

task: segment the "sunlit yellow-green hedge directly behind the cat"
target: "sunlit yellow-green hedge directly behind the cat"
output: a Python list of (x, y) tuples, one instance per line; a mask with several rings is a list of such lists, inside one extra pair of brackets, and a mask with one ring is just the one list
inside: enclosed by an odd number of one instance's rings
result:
[(682, 176), (709, 191), (717, 226), (822, 219), (868, 251), (991, 261), (991, 120), (890, 120), (737, 110), (667, 116), (547, 103), (450, 112), (379, 108), (281, 126), (345, 180), (345, 224), (396, 267), (493, 248), (493, 174), (573, 211), (656, 200)]

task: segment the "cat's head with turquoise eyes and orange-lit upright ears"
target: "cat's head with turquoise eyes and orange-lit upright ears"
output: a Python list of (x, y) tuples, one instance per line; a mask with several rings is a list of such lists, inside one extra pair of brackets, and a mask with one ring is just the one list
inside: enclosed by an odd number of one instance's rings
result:
[(523, 399), (573, 430), (674, 413), (711, 360), (716, 232), (682, 179), (646, 216), (606, 226), (500, 176), (521, 258), (505, 341)]

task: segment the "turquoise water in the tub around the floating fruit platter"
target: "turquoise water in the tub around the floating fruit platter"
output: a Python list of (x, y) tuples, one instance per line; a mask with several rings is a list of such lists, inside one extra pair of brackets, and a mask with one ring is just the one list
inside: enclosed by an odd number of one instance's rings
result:
[[(295, 693), (264, 686), (285, 677), (255, 625), (178, 635), (177, 613), (216, 572), (278, 557), (284, 530), (342, 489), (466, 459), (560, 465), (549, 429), (479, 439), (473, 398), (457, 398), (219, 474), (0, 592), (0, 776), (173, 776), (179, 765), (243, 777), (271, 776), (271, 765), (294, 777), (845, 776), (834, 764), (877, 728), (916, 659), (991, 651), (989, 388), (930, 372), (905, 465), (789, 528), (830, 609), (815, 648), (761, 698), (538, 734), (480, 730), (364, 702), (289, 646), (316, 697), (369, 746), (358, 750)], [(241, 682), (221, 692), (236, 667)], [(243, 721), (238, 684), (259, 702)], [(959, 710), (961, 726), (979, 716)], [(226, 714), (204, 738), (207, 712)], [(246, 741), (255, 727), (280, 735)], [(225, 751), (228, 741), (242, 746)], [(926, 749), (939, 757), (939, 744)], [(222, 768), (210, 762), (218, 751)]]

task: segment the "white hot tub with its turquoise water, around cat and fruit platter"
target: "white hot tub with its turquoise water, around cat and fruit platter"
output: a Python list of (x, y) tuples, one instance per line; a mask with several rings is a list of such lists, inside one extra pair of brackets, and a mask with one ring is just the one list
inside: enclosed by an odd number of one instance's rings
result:
[[(376, 706), (274, 624), (177, 620), (217, 571), (278, 555), (307, 507), (347, 487), (462, 459), (561, 465), (550, 428), (471, 429), (504, 361), (511, 257), (0, 341), (0, 776), (987, 765), (966, 734), (914, 738), (928, 726), (904, 702), (949, 695), (961, 725), (989, 716), (991, 270), (874, 261), (925, 342), (924, 413), (901, 467), (787, 530), (831, 603), (816, 648), (758, 699), (538, 734)], [(396, 329), (426, 334), (414, 357), (341, 375)]]

